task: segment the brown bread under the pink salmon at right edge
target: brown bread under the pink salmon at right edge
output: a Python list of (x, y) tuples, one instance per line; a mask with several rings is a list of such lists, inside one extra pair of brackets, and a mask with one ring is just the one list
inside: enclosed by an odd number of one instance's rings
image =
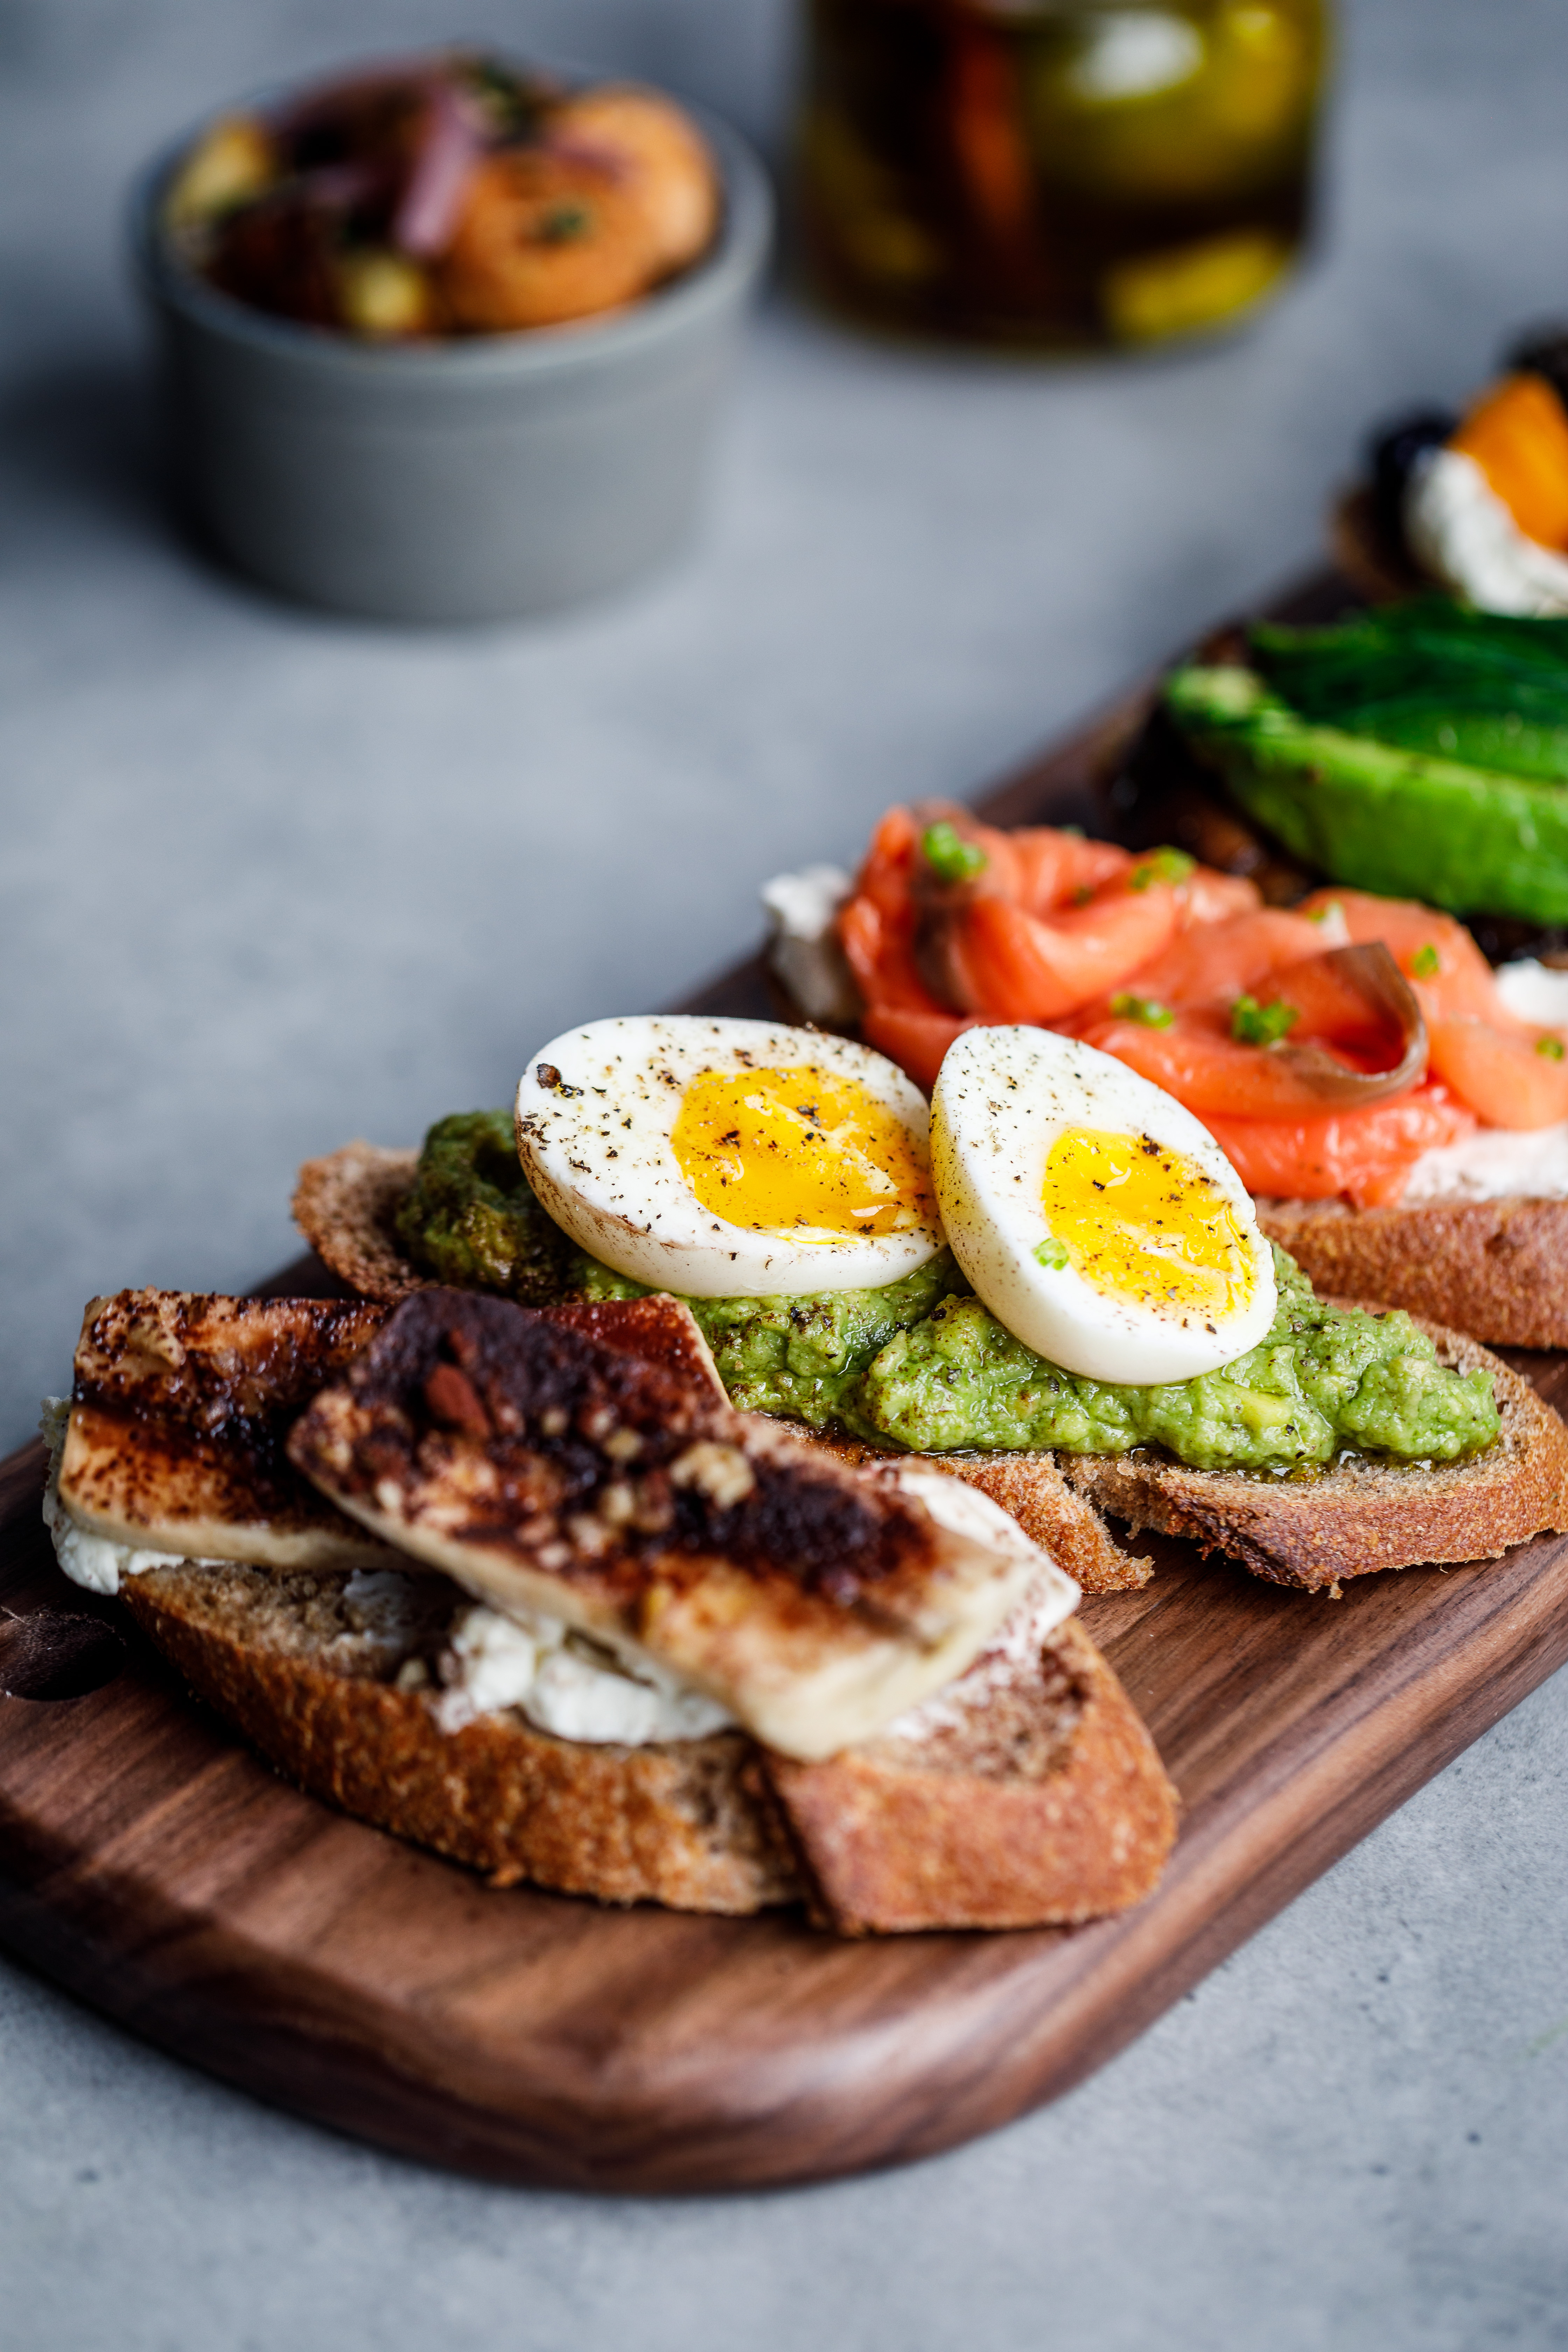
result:
[(1493, 1348), (1568, 1348), (1568, 1200), (1262, 1200), (1258, 1223), (1316, 1291), (1408, 1308)]

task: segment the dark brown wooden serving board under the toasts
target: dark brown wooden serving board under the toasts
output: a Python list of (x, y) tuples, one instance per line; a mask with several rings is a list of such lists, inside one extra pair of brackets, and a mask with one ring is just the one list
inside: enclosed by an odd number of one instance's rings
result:
[[(1295, 612), (1333, 609), (1314, 583)], [(1128, 696), (983, 809), (1093, 821)], [(759, 964), (693, 1000), (766, 1007)], [(329, 1289), (301, 1261), (268, 1289)], [(1568, 1357), (1514, 1355), (1568, 1402)], [(1185, 1806), (1159, 1891), (1072, 1931), (842, 1943), (792, 1912), (489, 1893), (299, 1795), (68, 1585), (0, 1465), (0, 1940), (162, 2049), (498, 2180), (717, 2190), (933, 2154), (1079, 2082), (1568, 1658), (1568, 1541), (1338, 1602), (1154, 1543), (1084, 1604)]]

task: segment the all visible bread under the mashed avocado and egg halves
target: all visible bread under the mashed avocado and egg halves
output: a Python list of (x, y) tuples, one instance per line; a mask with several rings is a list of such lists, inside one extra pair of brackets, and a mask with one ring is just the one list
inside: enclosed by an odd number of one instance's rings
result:
[[(308, 1164), (294, 1195), (294, 1214), (306, 1240), (341, 1279), (360, 1275), (386, 1282), (390, 1296), (407, 1296), (428, 1277), (397, 1247), (395, 1195), (383, 1185), (355, 1188), (353, 1171), (364, 1167), (362, 1155), (369, 1150), (371, 1145), (350, 1145), (341, 1157)], [(404, 1155), (404, 1164), (409, 1160)], [(331, 1216), (324, 1214), (327, 1202)], [(1354, 1228), (1359, 1221), (1347, 1214), (1345, 1223)], [(1312, 1261), (1305, 1263), (1309, 1270)], [(1326, 1294), (1354, 1294), (1354, 1284), (1316, 1287)], [(1371, 1296), (1378, 1298), (1378, 1291)], [(1316, 1477), (1265, 1479), (1187, 1470), (1150, 1449), (1060, 1461), (1041, 1451), (893, 1456), (842, 1435), (799, 1435), (851, 1465), (900, 1461), (973, 1484), (1051, 1550), (1086, 1592), (1126, 1590), (1152, 1573), (1145, 1557), (1112, 1541), (1100, 1512), (1124, 1519), (1133, 1534), (1147, 1526), (1190, 1536), (1204, 1550), (1227, 1552), (1272, 1583), (1305, 1590), (1331, 1590), (1371, 1569), (1490, 1559), (1512, 1543), (1568, 1526), (1568, 1430), (1561, 1418), (1507, 1364), (1453, 1331), (1443, 1317), (1425, 1317), (1425, 1327), (1443, 1364), (1483, 1369), (1493, 1381), (1502, 1437), (1472, 1463), (1406, 1470), (1345, 1461)]]

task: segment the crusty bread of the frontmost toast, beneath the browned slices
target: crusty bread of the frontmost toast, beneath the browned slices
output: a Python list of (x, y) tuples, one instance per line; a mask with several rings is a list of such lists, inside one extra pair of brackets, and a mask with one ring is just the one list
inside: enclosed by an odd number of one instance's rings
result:
[(896, 1733), (802, 1766), (741, 1731), (585, 1745), (517, 1712), (442, 1731), (407, 1668), (465, 1595), (411, 1576), (388, 1639), (353, 1585), (153, 1569), (125, 1602), (292, 1780), (496, 1886), (698, 1912), (804, 1900), (846, 1936), (1056, 1926), (1138, 1903), (1175, 1837), (1175, 1792), (1121, 1684), (1072, 1621), (1032, 1639), (1027, 1606)]

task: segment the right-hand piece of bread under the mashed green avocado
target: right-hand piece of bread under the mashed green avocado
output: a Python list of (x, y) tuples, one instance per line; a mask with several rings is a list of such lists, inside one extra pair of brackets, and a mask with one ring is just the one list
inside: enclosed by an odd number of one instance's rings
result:
[(1307, 1592), (1375, 1569), (1497, 1559), (1512, 1543), (1568, 1529), (1568, 1428), (1476, 1341), (1422, 1329), (1441, 1364), (1493, 1376), (1502, 1435), (1474, 1461), (1342, 1463), (1319, 1477), (1265, 1479), (1138, 1451), (1072, 1456), (1067, 1477), (1133, 1531), (1190, 1536), (1204, 1552), (1229, 1552), (1253, 1576)]

